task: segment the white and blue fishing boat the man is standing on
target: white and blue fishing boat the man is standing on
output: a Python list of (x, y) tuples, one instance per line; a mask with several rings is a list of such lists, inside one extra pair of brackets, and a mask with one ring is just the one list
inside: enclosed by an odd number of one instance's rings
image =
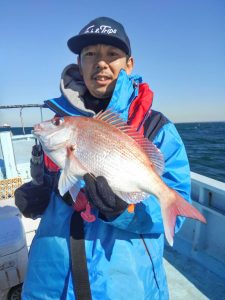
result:
[[(31, 180), (32, 134), (0, 132), (0, 299), (21, 299), (28, 252), (40, 219), (24, 218), (14, 191)], [(225, 183), (191, 172), (193, 205), (207, 224), (187, 219), (166, 244), (164, 265), (170, 298), (225, 299)]]

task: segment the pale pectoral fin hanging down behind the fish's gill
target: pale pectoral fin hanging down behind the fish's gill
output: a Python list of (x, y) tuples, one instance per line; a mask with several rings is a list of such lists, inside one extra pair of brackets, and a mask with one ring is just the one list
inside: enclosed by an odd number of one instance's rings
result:
[(58, 183), (58, 189), (61, 196), (69, 191), (74, 185), (77, 185), (83, 175), (88, 173), (88, 170), (85, 169), (75, 155), (71, 154), (72, 152), (73, 146), (68, 147), (65, 167), (60, 175)]

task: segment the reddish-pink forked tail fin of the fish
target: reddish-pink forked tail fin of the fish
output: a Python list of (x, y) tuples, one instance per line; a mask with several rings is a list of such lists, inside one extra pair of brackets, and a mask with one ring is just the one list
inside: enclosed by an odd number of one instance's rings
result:
[(175, 191), (173, 191), (173, 195), (174, 199), (169, 205), (163, 206), (164, 202), (161, 202), (165, 236), (170, 246), (173, 246), (174, 228), (177, 216), (184, 216), (206, 223), (205, 217), (194, 206), (184, 200)]

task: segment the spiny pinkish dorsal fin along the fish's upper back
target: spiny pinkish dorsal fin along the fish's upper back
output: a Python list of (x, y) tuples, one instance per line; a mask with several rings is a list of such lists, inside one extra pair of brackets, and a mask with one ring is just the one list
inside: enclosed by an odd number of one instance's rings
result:
[(162, 175), (164, 170), (164, 158), (161, 151), (151, 141), (136, 131), (134, 127), (128, 125), (117, 113), (111, 110), (100, 111), (94, 118), (114, 126), (134, 139), (148, 155), (156, 172)]

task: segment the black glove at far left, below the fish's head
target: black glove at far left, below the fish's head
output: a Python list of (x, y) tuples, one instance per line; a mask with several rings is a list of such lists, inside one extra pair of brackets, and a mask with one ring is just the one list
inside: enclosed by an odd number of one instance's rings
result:
[(45, 211), (50, 201), (51, 187), (27, 182), (15, 191), (15, 204), (26, 218), (35, 219)]

